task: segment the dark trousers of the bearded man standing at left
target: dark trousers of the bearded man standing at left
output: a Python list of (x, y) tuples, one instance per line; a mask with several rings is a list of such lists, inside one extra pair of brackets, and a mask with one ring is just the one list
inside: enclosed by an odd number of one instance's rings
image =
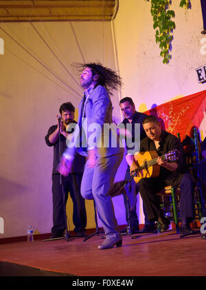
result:
[[(53, 194), (53, 233), (62, 234), (65, 231), (65, 211), (68, 194), (73, 201), (73, 225), (74, 231), (82, 231), (87, 225), (87, 214), (84, 198), (80, 194), (82, 174), (69, 174), (62, 176), (62, 185), (60, 185), (60, 174), (52, 174), (52, 194)], [(65, 204), (64, 204), (65, 194)]]

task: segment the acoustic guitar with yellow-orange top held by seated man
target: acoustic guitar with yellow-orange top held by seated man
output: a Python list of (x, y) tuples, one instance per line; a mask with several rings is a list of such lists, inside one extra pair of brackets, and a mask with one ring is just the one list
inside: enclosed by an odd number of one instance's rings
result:
[[(163, 160), (174, 162), (178, 160), (180, 156), (179, 150), (172, 150), (161, 156)], [(133, 178), (135, 183), (138, 183), (141, 178), (158, 177), (160, 172), (160, 166), (157, 164), (157, 152), (139, 152), (134, 156), (137, 162), (137, 169), (133, 170)], [(139, 172), (139, 176), (137, 176)]]

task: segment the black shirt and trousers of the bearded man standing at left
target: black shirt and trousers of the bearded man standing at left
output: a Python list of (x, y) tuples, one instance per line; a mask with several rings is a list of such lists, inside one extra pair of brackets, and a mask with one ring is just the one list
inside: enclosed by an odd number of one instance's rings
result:
[[(75, 122), (76, 123), (76, 122)], [(69, 176), (60, 176), (56, 167), (60, 161), (60, 155), (65, 152), (67, 148), (65, 136), (60, 134), (60, 150), (59, 140), (56, 143), (49, 142), (49, 135), (51, 135), (57, 128), (53, 125), (49, 128), (45, 141), (49, 147), (54, 146), (54, 159), (52, 168), (52, 196), (53, 196), (53, 227), (52, 234), (61, 235), (65, 231), (65, 211), (64, 207), (67, 204), (68, 194), (70, 194), (73, 201), (73, 225), (74, 231), (84, 231), (87, 225), (87, 214), (85, 208), (84, 198), (80, 193), (80, 185), (82, 182), (82, 174), (84, 171), (85, 158), (80, 154), (76, 154), (73, 160), (72, 173)], [(62, 178), (62, 185), (60, 184), (60, 177)], [(63, 190), (62, 190), (63, 189)], [(62, 192), (64, 191), (64, 192)], [(65, 198), (65, 203), (64, 203)]]

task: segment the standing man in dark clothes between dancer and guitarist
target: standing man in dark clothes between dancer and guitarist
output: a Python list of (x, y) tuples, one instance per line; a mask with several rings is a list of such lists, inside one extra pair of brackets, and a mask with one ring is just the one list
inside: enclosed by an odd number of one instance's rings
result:
[[(124, 124), (125, 128), (127, 124), (132, 124), (132, 143), (135, 142), (135, 124), (139, 124), (139, 130), (140, 130), (140, 140), (146, 137), (146, 133), (144, 132), (144, 129), (142, 127), (141, 122), (144, 120), (144, 118), (147, 116), (144, 113), (137, 112), (135, 110), (135, 104), (133, 102), (133, 99), (130, 97), (125, 97), (124, 99), (120, 100), (119, 102), (120, 109), (122, 111), (122, 115), (124, 116), (124, 120), (122, 123)], [(137, 133), (137, 132), (136, 132)], [(128, 138), (126, 140), (128, 142)], [(127, 155), (126, 155), (126, 161), (128, 163), (128, 167), (126, 169), (126, 174), (124, 179), (129, 180), (130, 179), (130, 165), (133, 163), (133, 156), (130, 158), (131, 154), (129, 153), (128, 146), (127, 149)], [(125, 186), (126, 194), (128, 196), (129, 204), (130, 204), (130, 226), (131, 226), (131, 233), (135, 234), (139, 232), (139, 220), (137, 218), (137, 210), (136, 210), (136, 204), (137, 204), (137, 194), (138, 194), (138, 185), (135, 184), (135, 181), (132, 179), (130, 183), (128, 183)], [(124, 205), (126, 208), (126, 222), (129, 223), (128, 220), (128, 209), (126, 206), (126, 196), (124, 196)], [(144, 206), (143, 206), (144, 209)], [(146, 211), (144, 209), (144, 216), (145, 216), (145, 225), (144, 228), (141, 229), (143, 232), (154, 232), (155, 231), (155, 224), (154, 222), (150, 222), (148, 220)], [(121, 232), (124, 234), (127, 229), (123, 229)]]

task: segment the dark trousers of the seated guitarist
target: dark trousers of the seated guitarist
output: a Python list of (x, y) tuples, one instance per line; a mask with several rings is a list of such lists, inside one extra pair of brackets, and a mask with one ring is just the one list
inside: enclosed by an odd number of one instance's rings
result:
[(148, 219), (155, 221), (162, 216), (159, 206), (159, 196), (157, 192), (163, 187), (174, 185), (180, 187), (180, 215), (181, 220), (194, 218), (194, 183), (190, 174), (180, 174), (178, 178), (171, 182), (171, 179), (142, 178), (139, 180), (139, 191), (146, 207)]

